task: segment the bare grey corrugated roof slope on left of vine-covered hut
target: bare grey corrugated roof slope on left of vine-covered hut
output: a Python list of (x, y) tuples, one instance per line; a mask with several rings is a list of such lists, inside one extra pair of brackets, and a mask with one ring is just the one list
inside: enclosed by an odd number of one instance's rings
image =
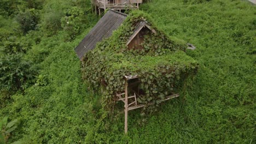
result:
[(89, 34), (75, 47), (75, 52), (81, 60), (86, 52), (95, 48), (102, 39), (109, 38), (112, 32), (117, 29), (126, 18), (126, 14), (118, 11), (108, 10), (107, 13), (97, 22)]

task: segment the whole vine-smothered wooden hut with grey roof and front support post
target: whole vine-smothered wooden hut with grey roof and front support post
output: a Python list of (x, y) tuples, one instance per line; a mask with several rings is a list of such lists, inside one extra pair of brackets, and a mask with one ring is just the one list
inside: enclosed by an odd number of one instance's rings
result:
[[(189, 44), (189, 46), (193, 46)], [(83, 79), (103, 89), (102, 103), (125, 104), (125, 133), (129, 110), (158, 106), (179, 97), (197, 62), (186, 55), (188, 45), (169, 37), (142, 11), (129, 15), (109, 10), (75, 48)]]

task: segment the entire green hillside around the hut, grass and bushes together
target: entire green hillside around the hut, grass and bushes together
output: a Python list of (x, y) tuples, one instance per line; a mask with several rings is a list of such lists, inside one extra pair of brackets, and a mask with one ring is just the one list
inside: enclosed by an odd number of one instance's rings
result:
[(200, 66), (158, 112), (130, 111), (125, 135), (124, 113), (101, 109), (74, 52), (100, 18), (90, 1), (1, 1), (0, 143), (256, 143), (255, 5), (152, 0), (141, 10), (194, 44)]

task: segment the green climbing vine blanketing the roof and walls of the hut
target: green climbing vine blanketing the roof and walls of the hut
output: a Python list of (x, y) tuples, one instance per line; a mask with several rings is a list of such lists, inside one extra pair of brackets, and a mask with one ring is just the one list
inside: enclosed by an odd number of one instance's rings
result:
[[(115, 94), (124, 91), (125, 75), (137, 75), (141, 81), (144, 93), (138, 102), (156, 106), (176, 93), (187, 76), (196, 73), (198, 63), (185, 54), (185, 42), (162, 31), (145, 35), (143, 49), (127, 49), (126, 42), (141, 20), (148, 21), (150, 16), (132, 11), (112, 37), (98, 43), (83, 58), (83, 79), (94, 90), (104, 88), (102, 103), (108, 108), (114, 105)], [(149, 25), (156, 29), (153, 23)]]

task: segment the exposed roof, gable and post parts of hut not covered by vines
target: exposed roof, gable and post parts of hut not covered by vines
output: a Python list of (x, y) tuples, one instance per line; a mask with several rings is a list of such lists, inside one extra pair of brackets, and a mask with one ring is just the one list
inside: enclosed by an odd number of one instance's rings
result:
[[(86, 52), (95, 49), (96, 44), (103, 39), (109, 38), (112, 35), (112, 32), (118, 29), (119, 26), (124, 22), (127, 15), (120, 13), (115, 10), (108, 10), (107, 13), (97, 22), (97, 24), (92, 28), (88, 35), (80, 42), (80, 44), (75, 47), (75, 52), (79, 57), (80, 61), (82, 61), (83, 56)], [(142, 43), (144, 42), (144, 36), (152, 33), (156, 34), (155, 29), (150, 26), (150, 24), (141, 20), (135, 26), (131, 37), (127, 39), (126, 46), (127, 49), (143, 49)], [(188, 49), (195, 49), (192, 44), (188, 44)], [(117, 93), (115, 96), (118, 101), (123, 101), (125, 104), (125, 133), (127, 133), (127, 115), (128, 111), (138, 109), (140, 107), (144, 107), (143, 104), (137, 103), (137, 97), (140, 94), (139, 92), (139, 77), (137, 75), (128, 75), (124, 77), (125, 85), (124, 92)], [(130, 93), (129, 93), (130, 92)], [(131, 95), (131, 93), (133, 95)], [(172, 93), (165, 99), (169, 100), (172, 98), (179, 97), (179, 94)]]

